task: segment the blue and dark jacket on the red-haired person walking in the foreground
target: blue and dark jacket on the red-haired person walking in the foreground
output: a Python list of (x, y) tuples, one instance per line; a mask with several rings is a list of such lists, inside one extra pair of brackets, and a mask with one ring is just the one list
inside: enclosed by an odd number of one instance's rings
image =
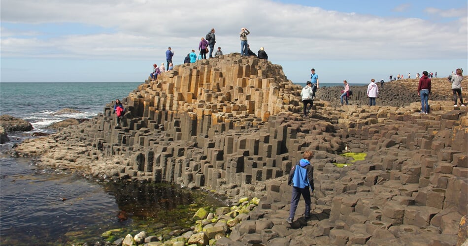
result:
[(306, 159), (301, 159), (289, 172), (288, 185), (314, 190), (314, 167)]

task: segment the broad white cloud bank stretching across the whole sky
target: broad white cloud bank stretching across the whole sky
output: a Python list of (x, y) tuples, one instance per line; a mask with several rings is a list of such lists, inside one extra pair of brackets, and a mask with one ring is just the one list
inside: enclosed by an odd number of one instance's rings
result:
[[(394, 11), (408, 7), (401, 4)], [(211, 28), (216, 29), (216, 46), (225, 53), (239, 52), (241, 27), (251, 31), (252, 49), (265, 47), (275, 61), (415, 59), (429, 53), (440, 59), (467, 58), (460, 52), (468, 47), (466, 9), (426, 8), (430, 14), (459, 17), (450, 23), (269, 0), (7, 0), (2, 9), (2, 23), (35, 24), (28, 31), (1, 29), (3, 58), (165, 61), (171, 46), (174, 60), (182, 61)], [(44, 37), (34, 29), (44, 23), (81, 23), (115, 32), (70, 35), (72, 30), (57, 30)]]

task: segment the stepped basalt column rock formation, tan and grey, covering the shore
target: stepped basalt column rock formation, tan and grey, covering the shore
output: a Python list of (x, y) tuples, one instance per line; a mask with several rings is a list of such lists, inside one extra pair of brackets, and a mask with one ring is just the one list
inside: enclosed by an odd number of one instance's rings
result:
[[(366, 87), (351, 85), (346, 106), (338, 105), (340, 87), (320, 88), (303, 117), (301, 86), (281, 66), (229, 54), (146, 80), (122, 100), (120, 126), (109, 103), (97, 117), (16, 151), (101, 179), (261, 197), (216, 245), (456, 245), (468, 211), (467, 109), (453, 106), (450, 83), (440, 78), (431, 113), (419, 114), (417, 85), (385, 83), (371, 107)], [(301, 200), (288, 224), (287, 175), (306, 150), (315, 154), (315, 206), (306, 220)], [(367, 156), (353, 162), (339, 155), (345, 150)]]

